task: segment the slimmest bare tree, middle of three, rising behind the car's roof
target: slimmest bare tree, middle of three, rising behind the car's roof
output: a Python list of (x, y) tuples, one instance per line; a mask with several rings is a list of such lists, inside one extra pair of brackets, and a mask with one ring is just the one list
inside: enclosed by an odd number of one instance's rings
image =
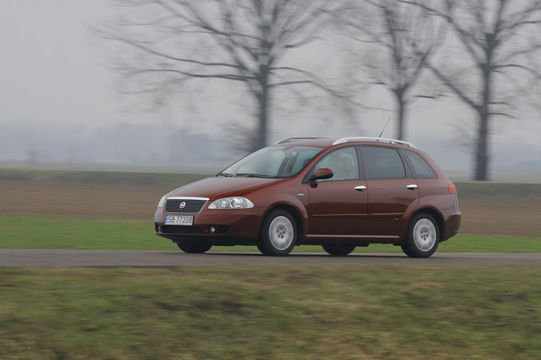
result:
[[(425, 63), (445, 35), (428, 8), (401, 0), (350, 1), (343, 19), (360, 41), (360, 62), (372, 84), (384, 86), (398, 107), (397, 139), (404, 138), (406, 111)], [(378, 51), (380, 50), (380, 51)], [(360, 52), (360, 51), (357, 51)]]

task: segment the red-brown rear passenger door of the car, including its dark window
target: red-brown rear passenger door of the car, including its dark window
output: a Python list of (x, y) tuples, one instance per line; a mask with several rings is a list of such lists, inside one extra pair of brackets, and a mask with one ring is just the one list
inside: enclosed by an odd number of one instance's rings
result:
[(398, 236), (407, 226), (404, 214), (419, 202), (418, 184), (398, 149), (362, 146), (361, 154), (367, 179), (366, 234)]

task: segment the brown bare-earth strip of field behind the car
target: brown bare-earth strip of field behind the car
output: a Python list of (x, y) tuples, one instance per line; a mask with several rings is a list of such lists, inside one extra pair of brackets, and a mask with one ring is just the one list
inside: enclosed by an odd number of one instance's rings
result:
[[(0, 180), (0, 215), (144, 219), (168, 186)], [(461, 232), (541, 237), (541, 202), (461, 197)]]

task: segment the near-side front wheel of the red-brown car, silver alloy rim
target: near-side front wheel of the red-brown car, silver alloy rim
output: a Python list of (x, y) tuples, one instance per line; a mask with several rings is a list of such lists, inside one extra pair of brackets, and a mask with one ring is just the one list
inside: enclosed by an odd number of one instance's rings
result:
[(296, 240), (295, 219), (285, 210), (275, 210), (263, 223), (257, 248), (264, 255), (286, 256), (293, 250)]

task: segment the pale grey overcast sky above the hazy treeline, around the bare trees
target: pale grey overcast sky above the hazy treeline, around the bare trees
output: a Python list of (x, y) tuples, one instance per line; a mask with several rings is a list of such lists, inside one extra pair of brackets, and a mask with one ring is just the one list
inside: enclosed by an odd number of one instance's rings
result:
[[(192, 106), (188, 105), (190, 101), (179, 101), (176, 106), (150, 112), (134, 106), (137, 99), (119, 95), (115, 91), (117, 76), (108, 68), (114, 45), (89, 30), (111, 19), (111, 12), (116, 11), (107, 0), (2, 0), (0, 8), (0, 125), (69, 124), (90, 129), (115, 123), (157, 123), (219, 136), (220, 124), (251, 119), (252, 110), (246, 108), (249, 103), (243, 104), (246, 93), (225, 82), (200, 88), (200, 93), (191, 95)], [(306, 51), (321, 51), (323, 47), (332, 49), (332, 45), (321, 42)], [(307, 58), (310, 57), (308, 53)], [(332, 63), (323, 58), (321, 61), (320, 67)], [(374, 94), (373, 98), (379, 99), (375, 105), (393, 108), (385, 93)], [(302, 109), (291, 119), (288, 109), (281, 109), (273, 114), (270, 141), (295, 135), (378, 136), (391, 115), (386, 111), (362, 112), (356, 115), (355, 124), (331, 123), (325, 119), (314, 121), (313, 113)], [(461, 163), (468, 162), (456, 169), (470, 169), (470, 156), (450, 144), (456, 141), (457, 128), (472, 116), (457, 101), (417, 101), (410, 108), (406, 139), (428, 147), (425, 149), (429, 153), (441, 154), (442, 158), (446, 154), (442, 161), (448, 169), (452, 169), (448, 162), (453, 157)], [(522, 114), (518, 121), (494, 123), (494, 163), (504, 157), (507, 161), (541, 158), (540, 119), (539, 114)], [(395, 125), (391, 123), (384, 136), (394, 134)], [(518, 152), (512, 153), (516, 141), (521, 145), (516, 147)], [(438, 160), (438, 156), (434, 157)]]

